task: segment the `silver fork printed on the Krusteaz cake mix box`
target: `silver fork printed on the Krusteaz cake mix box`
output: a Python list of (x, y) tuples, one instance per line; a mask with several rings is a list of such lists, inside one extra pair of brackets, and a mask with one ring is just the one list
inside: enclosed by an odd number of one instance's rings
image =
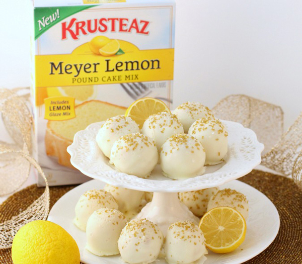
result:
[[(152, 91), (141, 82), (131, 82), (131, 83), (120, 83), (124, 91), (133, 99), (138, 100), (149, 95)], [(162, 97), (156, 97), (156, 99), (165, 100), (172, 103), (172, 100), (168, 100)]]

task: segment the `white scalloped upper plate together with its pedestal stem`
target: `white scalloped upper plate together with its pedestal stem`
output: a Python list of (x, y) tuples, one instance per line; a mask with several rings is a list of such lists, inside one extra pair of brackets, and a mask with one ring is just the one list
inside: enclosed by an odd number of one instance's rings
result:
[(188, 207), (180, 203), (178, 192), (220, 186), (246, 175), (260, 164), (264, 145), (258, 142), (256, 134), (239, 123), (222, 123), (229, 133), (225, 162), (208, 166), (203, 175), (187, 180), (173, 181), (164, 177), (160, 165), (156, 166), (148, 179), (117, 171), (96, 142), (96, 135), (103, 122), (91, 124), (75, 134), (67, 151), (71, 156), (71, 164), (91, 178), (117, 187), (154, 192), (152, 202), (137, 217), (158, 224), (165, 235), (168, 226), (178, 220), (190, 220), (196, 224), (199, 222)]

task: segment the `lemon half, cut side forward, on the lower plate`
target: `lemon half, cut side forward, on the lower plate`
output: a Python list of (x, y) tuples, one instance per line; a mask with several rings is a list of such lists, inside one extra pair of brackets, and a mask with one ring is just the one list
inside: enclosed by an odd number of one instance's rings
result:
[(215, 253), (228, 253), (243, 243), (247, 225), (235, 209), (216, 207), (201, 218), (199, 228), (204, 234), (208, 249)]

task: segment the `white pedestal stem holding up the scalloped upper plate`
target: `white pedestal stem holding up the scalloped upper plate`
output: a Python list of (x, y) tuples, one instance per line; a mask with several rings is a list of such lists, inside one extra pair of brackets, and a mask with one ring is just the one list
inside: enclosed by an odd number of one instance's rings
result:
[(170, 224), (179, 220), (189, 220), (199, 224), (189, 208), (178, 199), (178, 193), (154, 193), (152, 202), (146, 204), (136, 218), (146, 218), (157, 224), (166, 236)]

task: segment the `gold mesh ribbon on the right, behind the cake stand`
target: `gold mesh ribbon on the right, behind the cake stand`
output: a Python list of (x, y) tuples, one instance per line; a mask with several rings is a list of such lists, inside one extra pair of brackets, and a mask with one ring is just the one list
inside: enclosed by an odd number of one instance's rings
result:
[(213, 108), (216, 117), (239, 122), (251, 128), (265, 145), (262, 164), (283, 175), (292, 175), (301, 186), (302, 113), (283, 133), (283, 111), (280, 107), (244, 95), (222, 99)]

